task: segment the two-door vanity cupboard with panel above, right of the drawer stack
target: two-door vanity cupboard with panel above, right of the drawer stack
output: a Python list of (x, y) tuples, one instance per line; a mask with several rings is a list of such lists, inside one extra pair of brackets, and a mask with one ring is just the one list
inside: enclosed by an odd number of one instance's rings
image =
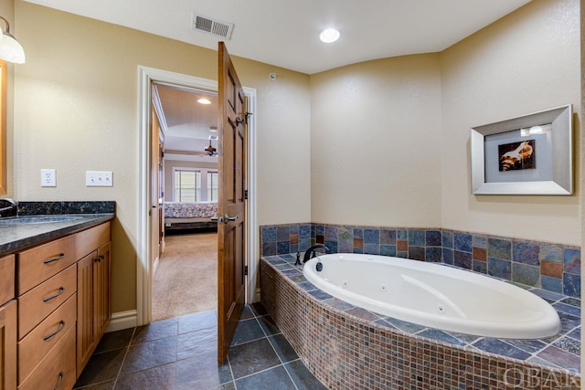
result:
[[(78, 255), (78, 375), (88, 363), (112, 319), (110, 227), (104, 224), (80, 232)], [(88, 252), (89, 251), (89, 252)]]

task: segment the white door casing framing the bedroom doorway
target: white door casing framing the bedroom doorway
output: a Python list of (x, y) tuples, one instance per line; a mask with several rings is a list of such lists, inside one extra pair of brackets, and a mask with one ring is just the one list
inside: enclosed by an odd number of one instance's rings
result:
[[(201, 79), (168, 70), (138, 67), (138, 202), (136, 218), (136, 325), (150, 323), (152, 318), (152, 280), (153, 253), (149, 213), (151, 212), (150, 161), (151, 161), (151, 102), (152, 82), (163, 82), (196, 88), (198, 90), (218, 91), (218, 81)], [(248, 120), (248, 202), (246, 258), (248, 279), (246, 280), (246, 303), (254, 300), (258, 274), (259, 227), (256, 216), (256, 90), (243, 87), (249, 101)]]

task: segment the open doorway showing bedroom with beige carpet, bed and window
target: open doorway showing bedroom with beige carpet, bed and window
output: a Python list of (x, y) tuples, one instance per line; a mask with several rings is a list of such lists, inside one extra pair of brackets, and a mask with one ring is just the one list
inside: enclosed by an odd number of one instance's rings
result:
[(162, 230), (153, 237), (164, 249), (154, 259), (152, 321), (160, 321), (217, 309), (218, 93), (154, 82), (152, 98), (163, 151), (153, 162)]

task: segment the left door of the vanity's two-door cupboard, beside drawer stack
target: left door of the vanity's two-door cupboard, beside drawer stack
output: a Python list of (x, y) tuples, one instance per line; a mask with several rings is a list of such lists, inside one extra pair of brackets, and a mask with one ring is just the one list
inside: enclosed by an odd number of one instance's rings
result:
[(88, 363), (96, 346), (93, 323), (93, 263), (94, 251), (77, 263), (77, 374)]

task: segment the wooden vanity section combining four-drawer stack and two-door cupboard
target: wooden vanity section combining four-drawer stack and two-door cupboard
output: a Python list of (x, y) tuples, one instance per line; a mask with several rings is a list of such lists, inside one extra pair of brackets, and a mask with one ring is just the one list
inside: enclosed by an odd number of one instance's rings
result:
[(112, 317), (110, 223), (17, 253), (16, 280), (18, 390), (71, 389)]

